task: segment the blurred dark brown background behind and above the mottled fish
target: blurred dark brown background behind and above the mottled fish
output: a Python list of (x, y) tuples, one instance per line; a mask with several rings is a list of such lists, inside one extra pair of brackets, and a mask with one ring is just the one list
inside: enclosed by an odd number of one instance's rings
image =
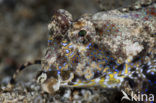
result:
[[(132, 1), (135, 0), (0, 0), (0, 81), (8, 81), (20, 64), (43, 56), (47, 25), (55, 10), (68, 10), (77, 19), (84, 13), (96, 13), (100, 6), (109, 10)], [(3, 80), (4, 77), (8, 78)]]

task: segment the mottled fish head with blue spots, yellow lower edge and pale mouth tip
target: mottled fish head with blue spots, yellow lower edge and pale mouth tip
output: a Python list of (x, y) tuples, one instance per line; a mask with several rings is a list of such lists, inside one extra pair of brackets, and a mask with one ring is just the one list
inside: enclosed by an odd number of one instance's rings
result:
[[(110, 18), (123, 21), (127, 19), (126, 16), (120, 13), (110, 14)], [(109, 18), (105, 15), (103, 17)], [(83, 15), (80, 19), (73, 21), (68, 11), (60, 9), (54, 13), (48, 25), (50, 31), (48, 48), (41, 61), (42, 71), (36, 79), (43, 91), (54, 93), (60, 87), (120, 87), (124, 79), (134, 73), (132, 69), (139, 68), (141, 59), (134, 60), (132, 57), (123, 59), (120, 52), (118, 54), (121, 57), (118, 58), (114, 55), (116, 51), (111, 51), (108, 45), (104, 44), (107, 38), (105, 34), (121, 33), (116, 23), (103, 19), (104, 23), (100, 26), (98, 25), (101, 23), (98, 21), (100, 18), (96, 19), (97, 21), (95, 19), (94, 16)], [(126, 30), (128, 27), (123, 28)], [(133, 37), (135, 38), (134, 35)], [(111, 40), (110, 38), (108, 41), (111, 42)], [(134, 50), (138, 53), (143, 50), (143, 47), (140, 46), (140, 49)], [(136, 54), (131, 55), (136, 56)], [(21, 67), (19, 71), (24, 67)], [(143, 76), (142, 73), (140, 75)]]

